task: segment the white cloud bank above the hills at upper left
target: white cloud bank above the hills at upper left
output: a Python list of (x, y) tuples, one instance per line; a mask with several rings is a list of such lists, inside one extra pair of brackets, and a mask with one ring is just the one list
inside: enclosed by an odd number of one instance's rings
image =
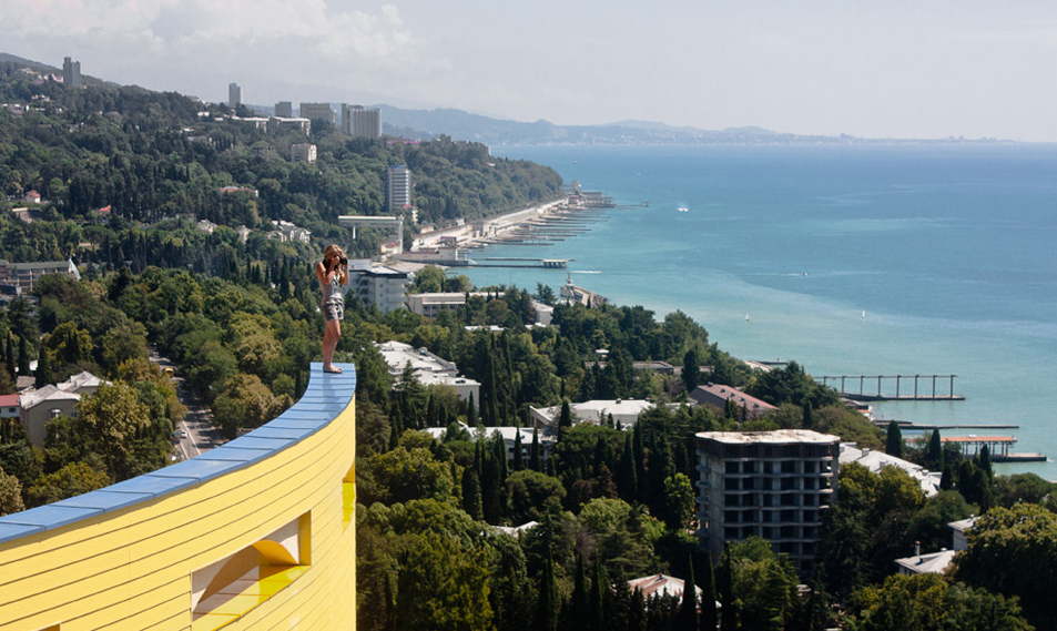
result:
[(322, 84), (355, 78), (365, 86), (386, 73), (445, 68), (396, 6), (337, 1), (9, 0), (0, 3), (0, 41), (16, 54), (48, 54), (41, 61), (52, 63), (75, 54), (98, 74), (106, 75), (99, 70), (106, 63), (145, 83), (151, 68)]

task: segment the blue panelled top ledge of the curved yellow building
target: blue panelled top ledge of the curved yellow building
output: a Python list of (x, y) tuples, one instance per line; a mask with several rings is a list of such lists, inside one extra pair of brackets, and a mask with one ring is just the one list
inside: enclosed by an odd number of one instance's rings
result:
[(356, 394), (356, 367), (336, 366), (344, 372), (324, 373), (323, 364), (314, 362), (308, 388), (292, 408), (216, 449), (104, 489), (0, 517), (0, 545), (179, 491), (295, 445), (334, 420)]

